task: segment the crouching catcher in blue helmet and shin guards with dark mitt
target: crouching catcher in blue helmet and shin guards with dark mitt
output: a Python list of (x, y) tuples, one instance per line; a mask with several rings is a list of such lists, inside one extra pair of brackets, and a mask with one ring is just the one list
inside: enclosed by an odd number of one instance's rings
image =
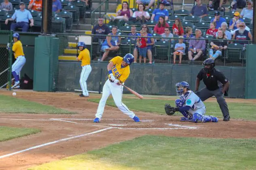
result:
[(164, 109), (167, 115), (173, 115), (175, 111), (181, 112), (184, 116), (181, 121), (192, 121), (194, 123), (218, 122), (216, 117), (205, 115), (205, 104), (190, 90), (187, 82), (176, 83), (176, 92), (179, 99), (175, 100), (176, 107), (165, 104)]

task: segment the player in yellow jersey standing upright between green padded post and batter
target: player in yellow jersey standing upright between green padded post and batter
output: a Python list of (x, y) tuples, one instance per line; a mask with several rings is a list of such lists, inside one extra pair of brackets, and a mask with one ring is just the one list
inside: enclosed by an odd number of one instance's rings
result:
[(90, 52), (89, 52), (89, 50), (87, 50), (87, 48), (85, 48), (84, 42), (79, 42), (77, 44), (77, 48), (79, 48), (79, 50), (81, 51), (79, 53), (79, 56), (77, 57), (77, 60), (82, 61), (82, 64), (81, 64), (82, 71), (81, 71), (79, 83), (80, 83), (80, 86), (81, 86), (81, 89), (83, 92), (82, 92), (82, 94), (79, 94), (79, 96), (80, 97), (89, 97), (86, 80), (92, 71), (92, 67), (90, 65), (90, 63), (91, 63)]

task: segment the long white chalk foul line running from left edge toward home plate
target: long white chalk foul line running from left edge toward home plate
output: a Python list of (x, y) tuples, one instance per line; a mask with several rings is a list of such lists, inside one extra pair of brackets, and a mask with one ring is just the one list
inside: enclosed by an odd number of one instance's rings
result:
[(21, 151), (17, 151), (17, 152), (9, 153), (9, 154), (6, 154), (6, 155), (2, 155), (2, 156), (0, 156), (0, 159), (2, 159), (2, 158), (4, 158), (4, 157), (9, 157), (9, 156), (11, 156), (11, 155), (16, 155), (16, 154), (18, 154), (18, 153), (30, 151), (30, 150), (32, 150), (32, 149), (36, 149), (36, 148), (39, 148), (39, 147), (44, 147), (44, 146), (47, 146), (47, 145), (51, 145), (51, 144), (54, 144), (54, 143), (58, 143), (58, 142), (62, 142), (62, 141), (67, 141), (67, 140), (70, 140), (70, 139), (75, 139), (75, 138), (87, 136), (87, 135), (90, 135), (90, 134), (102, 132), (102, 131), (105, 131), (105, 130), (108, 130), (108, 129), (112, 129), (112, 128), (113, 128), (113, 127), (109, 127), (109, 128), (97, 130), (97, 131), (94, 131), (94, 132), (85, 133), (85, 134), (81, 134), (81, 135), (74, 136), (74, 137), (70, 137), (70, 138), (60, 139), (60, 140), (58, 140), (58, 141), (53, 141), (53, 142), (45, 143), (45, 144), (42, 144), (42, 145), (37, 145), (37, 146), (34, 146), (34, 147), (30, 147), (30, 148), (28, 148), (28, 149), (23, 149), (23, 150), (21, 150)]

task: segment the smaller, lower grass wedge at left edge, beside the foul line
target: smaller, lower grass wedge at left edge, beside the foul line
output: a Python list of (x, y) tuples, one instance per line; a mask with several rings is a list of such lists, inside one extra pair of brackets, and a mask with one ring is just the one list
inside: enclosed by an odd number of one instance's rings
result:
[(0, 142), (10, 139), (18, 138), (21, 136), (27, 136), (41, 132), (39, 129), (34, 128), (13, 128), (7, 126), (0, 126)]

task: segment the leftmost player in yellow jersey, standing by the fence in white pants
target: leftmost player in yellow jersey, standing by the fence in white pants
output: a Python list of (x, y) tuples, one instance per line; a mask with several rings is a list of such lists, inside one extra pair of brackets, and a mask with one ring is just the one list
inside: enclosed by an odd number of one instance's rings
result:
[(13, 34), (13, 42), (12, 50), (16, 61), (12, 65), (12, 74), (15, 79), (15, 84), (12, 88), (19, 88), (19, 73), (23, 65), (26, 63), (26, 58), (24, 56), (21, 41), (19, 40), (19, 34), (16, 32)]

